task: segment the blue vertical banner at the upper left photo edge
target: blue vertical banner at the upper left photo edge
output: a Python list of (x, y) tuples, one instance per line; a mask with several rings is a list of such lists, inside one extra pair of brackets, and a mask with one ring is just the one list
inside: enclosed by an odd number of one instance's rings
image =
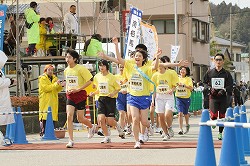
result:
[(4, 23), (6, 18), (7, 5), (0, 5), (0, 50), (3, 50)]

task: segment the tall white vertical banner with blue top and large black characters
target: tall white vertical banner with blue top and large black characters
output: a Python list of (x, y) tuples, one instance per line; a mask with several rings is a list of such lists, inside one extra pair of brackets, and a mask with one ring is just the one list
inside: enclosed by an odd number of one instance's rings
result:
[(126, 35), (124, 55), (125, 59), (129, 59), (131, 52), (135, 50), (135, 46), (139, 44), (141, 31), (140, 31), (140, 22), (142, 17), (142, 11), (137, 8), (131, 8), (130, 18), (129, 18), (129, 27)]

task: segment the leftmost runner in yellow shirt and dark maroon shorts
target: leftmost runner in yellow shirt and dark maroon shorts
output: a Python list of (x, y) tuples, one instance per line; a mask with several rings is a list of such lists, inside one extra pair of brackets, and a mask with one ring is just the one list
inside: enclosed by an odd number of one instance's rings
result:
[(67, 128), (69, 133), (69, 143), (67, 148), (73, 148), (73, 115), (75, 109), (77, 110), (78, 122), (88, 126), (88, 138), (92, 138), (95, 133), (95, 125), (84, 116), (87, 93), (84, 90), (91, 84), (92, 74), (90, 71), (77, 64), (79, 61), (79, 54), (74, 50), (68, 50), (65, 58), (68, 67), (64, 70), (66, 78), (66, 112), (67, 112)]

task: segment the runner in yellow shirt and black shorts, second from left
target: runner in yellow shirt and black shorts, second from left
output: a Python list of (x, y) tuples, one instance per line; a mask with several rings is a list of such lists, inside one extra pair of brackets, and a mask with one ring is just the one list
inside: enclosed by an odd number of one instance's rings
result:
[(100, 60), (98, 66), (100, 72), (94, 77), (94, 85), (97, 87), (97, 90), (91, 92), (90, 96), (99, 94), (98, 122), (104, 134), (104, 140), (101, 143), (110, 143), (111, 138), (107, 125), (116, 126), (119, 136), (125, 138), (120, 124), (115, 121), (116, 98), (121, 87), (116, 82), (115, 76), (109, 72), (108, 61)]

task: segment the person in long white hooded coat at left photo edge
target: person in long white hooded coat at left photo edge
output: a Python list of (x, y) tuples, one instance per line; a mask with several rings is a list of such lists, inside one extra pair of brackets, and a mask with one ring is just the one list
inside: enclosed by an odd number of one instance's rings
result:
[[(13, 112), (11, 107), (9, 86), (15, 84), (16, 80), (6, 78), (4, 73), (2, 72), (2, 68), (7, 62), (7, 59), (8, 57), (5, 55), (5, 53), (3, 51), (0, 51), (0, 113)], [(0, 126), (11, 124), (14, 122), (15, 119), (13, 114), (0, 115)]]

